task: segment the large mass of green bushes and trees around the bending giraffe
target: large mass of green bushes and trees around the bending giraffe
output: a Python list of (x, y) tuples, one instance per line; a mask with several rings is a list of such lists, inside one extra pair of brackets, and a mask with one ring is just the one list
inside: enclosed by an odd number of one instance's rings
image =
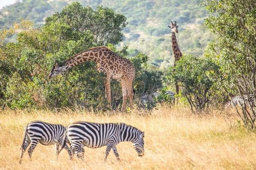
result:
[[(82, 20), (84, 16), (88, 16), (88, 20)], [(84, 27), (87, 21), (92, 22), (95, 18), (98, 22), (93, 28)], [(104, 75), (96, 70), (95, 62), (84, 62), (50, 80), (47, 75), (55, 60), (64, 62), (76, 53), (107, 42), (117, 44), (125, 20), (112, 9), (99, 6), (93, 11), (74, 2), (61, 13), (47, 18), (46, 24), (40, 28), (26, 19), (15, 23), (13, 29), (2, 30), (1, 106), (13, 109), (83, 107), (94, 111), (105, 108)], [(14, 33), (16, 42), (8, 42)], [(98, 33), (100, 38), (96, 38)], [(121, 51), (114, 44), (108, 46), (121, 56), (128, 54), (127, 46)], [(112, 88), (120, 96), (120, 84), (113, 82)]]

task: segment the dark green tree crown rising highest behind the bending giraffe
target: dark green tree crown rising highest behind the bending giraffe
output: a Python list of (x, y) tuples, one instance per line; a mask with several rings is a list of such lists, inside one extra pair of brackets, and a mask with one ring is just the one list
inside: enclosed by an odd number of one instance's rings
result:
[(58, 13), (45, 20), (45, 25), (50, 23), (65, 23), (70, 29), (77, 33), (76, 36), (83, 36), (89, 32), (93, 35), (93, 43), (99, 45), (118, 44), (122, 41), (122, 30), (128, 24), (126, 17), (115, 13), (113, 9), (99, 5), (94, 11), (91, 7), (83, 7), (79, 2), (64, 7)]

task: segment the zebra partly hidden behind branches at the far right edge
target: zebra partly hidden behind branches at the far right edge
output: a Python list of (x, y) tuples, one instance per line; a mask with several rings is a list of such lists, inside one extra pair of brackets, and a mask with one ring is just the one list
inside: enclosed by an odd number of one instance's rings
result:
[(235, 107), (235, 106), (246, 106), (249, 103), (254, 104), (254, 95), (249, 94), (250, 99), (248, 99), (247, 95), (243, 95), (243, 98), (240, 96), (235, 96), (231, 100), (229, 100), (227, 103), (225, 103), (225, 108), (229, 108), (229, 106)]

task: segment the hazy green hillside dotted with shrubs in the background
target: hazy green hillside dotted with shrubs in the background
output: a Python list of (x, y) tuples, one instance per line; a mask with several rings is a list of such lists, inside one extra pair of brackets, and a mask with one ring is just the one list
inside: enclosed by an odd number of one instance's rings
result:
[[(36, 26), (44, 24), (45, 18), (74, 0), (22, 0), (0, 10), (0, 29), (11, 27), (20, 18), (29, 18)], [(93, 9), (98, 4), (123, 14), (129, 22), (124, 29), (124, 40), (119, 48), (128, 45), (130, 55), (138, 52), (150, 57), (148, 64), (154, 69), (167, 68), (174, 62), (171, 46), (171, 21), (177, 21), (179, 33), (176, 34), (183, 54), (203, 57), (211, 34), (203, 26), (209, 14), (199, 7), (198, 0), (78, 0), (83, 6)], [(152, 67), (151, 67), (152, 68)]]

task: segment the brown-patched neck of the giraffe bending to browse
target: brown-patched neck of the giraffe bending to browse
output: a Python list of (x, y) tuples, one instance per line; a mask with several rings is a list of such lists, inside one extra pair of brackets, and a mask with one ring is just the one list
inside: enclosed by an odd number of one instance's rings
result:
[(97, 62), (99, 58), (99, 53), (95, 53), (93, 49), (82, 51), (73, 57), (69, 58), (64, 64), (61, 66), (63, 71), (66, 71), (69, 68), (72, 68), (82, 62), (94, 61)]

